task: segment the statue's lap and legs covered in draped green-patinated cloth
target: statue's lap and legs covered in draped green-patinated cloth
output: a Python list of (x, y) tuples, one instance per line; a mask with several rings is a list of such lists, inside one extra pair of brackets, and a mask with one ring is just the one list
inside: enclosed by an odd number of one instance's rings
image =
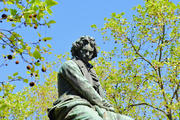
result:
[(96, 105), (92, 106), (82, 99), (71, 99), (58, 103), (49, 110), (49, 117), (52, 120), (133, 120), (128, 116), (107, 111)]

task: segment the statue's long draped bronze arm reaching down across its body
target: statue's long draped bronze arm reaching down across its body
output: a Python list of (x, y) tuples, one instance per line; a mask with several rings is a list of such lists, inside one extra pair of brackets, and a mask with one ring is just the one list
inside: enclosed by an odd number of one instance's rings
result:
[(60, 74), (91, 104), (104, 107), (102, 97), (88, 83), (88, 80), (82, 75), (79, 67), (72, 60), (62, 65)]

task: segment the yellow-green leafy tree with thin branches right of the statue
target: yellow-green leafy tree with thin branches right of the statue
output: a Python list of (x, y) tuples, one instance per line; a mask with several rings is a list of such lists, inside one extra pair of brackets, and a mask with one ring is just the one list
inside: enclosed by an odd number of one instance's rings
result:
[(97, 62), (107, 98), (118, 112), (135, 119), (178, 119), (180, 5), (148, 0), (133, 9), (131, 21), (124, 13), (112, 13), (98, 29), (105, 40), (110, 34), (118, 44), (114, 67), (107, 61), (109, 53)]

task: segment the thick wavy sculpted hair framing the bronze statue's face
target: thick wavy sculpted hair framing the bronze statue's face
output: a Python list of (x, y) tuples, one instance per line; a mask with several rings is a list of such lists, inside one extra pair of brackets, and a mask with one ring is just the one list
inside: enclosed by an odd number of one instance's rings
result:
[(78, 52), (83, 48), (85, 44), (90, 43), (90, 45), (94, 48), (92, 59), (97, 57), (97, 46), (95, 43), (95, 39), (90, 36), (81, 36), (78, 40), (76, 40), (71, 47), (71, 55), (73, 57), (78, 57)]

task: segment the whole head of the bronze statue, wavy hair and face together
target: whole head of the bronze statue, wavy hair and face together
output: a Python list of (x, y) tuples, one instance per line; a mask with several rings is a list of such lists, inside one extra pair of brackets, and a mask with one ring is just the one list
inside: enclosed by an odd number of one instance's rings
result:
[(72, 44), (71, 54), (84, 62), (88, 62), (97, 57), (97, 46), (95, 39), (90, 36), (81, 36)]

